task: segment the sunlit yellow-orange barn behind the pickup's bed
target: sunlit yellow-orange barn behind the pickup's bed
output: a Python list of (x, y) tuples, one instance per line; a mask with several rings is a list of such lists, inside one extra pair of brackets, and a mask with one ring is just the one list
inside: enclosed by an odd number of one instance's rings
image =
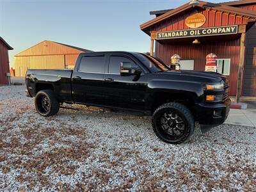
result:
[(44, 40), (14, 56), (15, 76), (24, 77), (28, 68), (74, 68), (77, 56), (81, 52), (91, 51), (72, 45)]

